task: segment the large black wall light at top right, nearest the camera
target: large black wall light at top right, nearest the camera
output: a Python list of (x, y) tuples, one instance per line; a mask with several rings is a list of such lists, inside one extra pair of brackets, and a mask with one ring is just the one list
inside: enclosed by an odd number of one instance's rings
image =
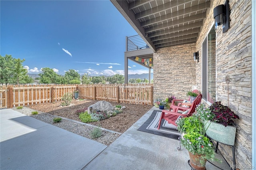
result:
[(215, 30), (217, 26), (222, 26), (222, 32), (226, 32), (230, 28), (230, 11), (229, 11), (229, 1), (226, 0), (225, 4), (216, 6), (213, 9), (213, 18), (215, 19)]

